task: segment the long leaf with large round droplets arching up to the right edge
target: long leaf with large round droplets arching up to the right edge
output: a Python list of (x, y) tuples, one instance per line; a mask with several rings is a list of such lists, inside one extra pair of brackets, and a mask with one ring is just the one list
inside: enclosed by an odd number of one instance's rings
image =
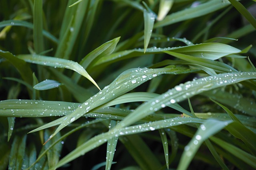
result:
[(161, 94), (155, 99), (150, 100), (137, 107), (137, 109), (122, 120), (116, 128), (125, 127), (132, 123), (162, 109), (170, 104), (181, 102), (187, 98), (200, 94), (202, 92), (212, 90), (221, 86), (235, 84), (240, 81), (255, 79), (255, 72), (239, 72), (239, 73), (224, 73), (216, 76), (208, 76), (198, 80), (188, 81), (184, 84), (175, 86), (168, 92)]

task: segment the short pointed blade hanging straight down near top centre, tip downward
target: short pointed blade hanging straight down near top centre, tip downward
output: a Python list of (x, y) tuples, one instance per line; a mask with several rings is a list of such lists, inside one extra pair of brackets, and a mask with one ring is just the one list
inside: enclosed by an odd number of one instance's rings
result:
[(152, 12), (148, 12), (147, 10), (144, 10), (143, 16), (144, 16), (144, 53), (146, 53), (146, 49), (148, 48), (148, 43), (152, 35), (155, 15)]

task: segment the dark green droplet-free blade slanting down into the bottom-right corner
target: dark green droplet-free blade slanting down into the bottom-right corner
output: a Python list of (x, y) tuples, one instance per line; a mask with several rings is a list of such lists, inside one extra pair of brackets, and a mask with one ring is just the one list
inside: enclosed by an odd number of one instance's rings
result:
[(227, 143), (226, 141), (223, 141), (221, 139), (218, 139), (217, 137), (211, 137), (211, 141), (222, 147), (222, 149), (228, 151), (233, 156), (239, 158), (246, 164), (252, 166), (253, 168), (256, 168), (256, 157), (252, 156), (251, 154), (248, 154), (242, 149), (239, 149), (238, 147), (235, 147), (234, 145)]

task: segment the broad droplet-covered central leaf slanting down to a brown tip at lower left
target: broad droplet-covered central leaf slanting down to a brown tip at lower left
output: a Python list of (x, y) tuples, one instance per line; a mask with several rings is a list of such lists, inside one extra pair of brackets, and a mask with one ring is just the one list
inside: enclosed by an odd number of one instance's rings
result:
[[(180, 69), (182, 68), (182, 69)], [(149, 68), (132, 68), (126, 70), (120, 76), (118, 76), (111, 84), (105, 86), (104, 89), (98, 94), (90, 97), (86, 100), (80, 107), (78, 107), (73, 113), (65, 116), (64, 121), (56, 129), (56, 132), (51, 136), (53, 137), (61, 129), (66, 127), (68, 124), (80, 118), (82, 115), (88, 113), (89, 111), (106, 104), (111, 100), (121, 96), (122, 94), (136, 88), (140, 84), (151, 80), (152, 78), (161, 75), (161, 74), (182, 74), (189, 72), (190, 69), (184, 70), (183, 67), (172, 66), (170, 68), (158, 68), (158, 69), (149, 69)], [(62, 118), (61, 118), (62, 119)]]

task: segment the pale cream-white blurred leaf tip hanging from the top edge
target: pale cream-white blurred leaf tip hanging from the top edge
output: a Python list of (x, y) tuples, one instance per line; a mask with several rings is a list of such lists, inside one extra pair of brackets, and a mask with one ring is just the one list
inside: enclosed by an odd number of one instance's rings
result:
[(158, 16), (157, 16), (158, 21), (162, 21), (165, 18), (165, 16), (168, 14), (170, 9), (172, 8), (173, 3), (174, 3), (174, 0), (160, 0)]

